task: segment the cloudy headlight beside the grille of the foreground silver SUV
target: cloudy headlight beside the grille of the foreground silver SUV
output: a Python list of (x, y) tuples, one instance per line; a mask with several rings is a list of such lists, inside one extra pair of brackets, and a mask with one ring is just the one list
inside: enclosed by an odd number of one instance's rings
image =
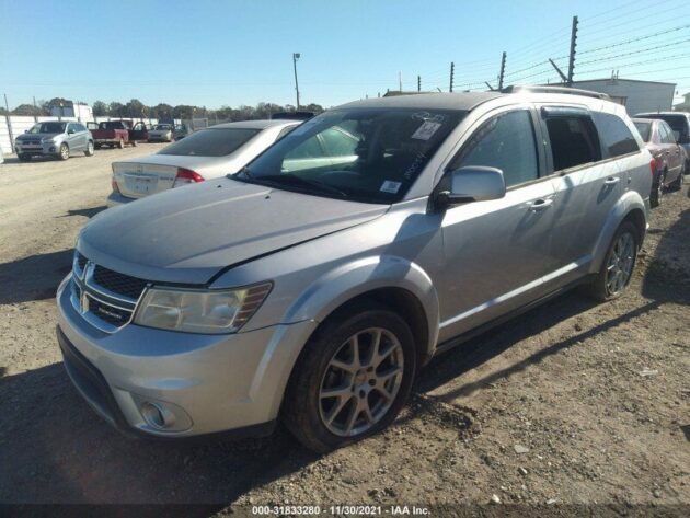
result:
[(185, 333), (234, 333), (254, 314), (271, 288), (271, 283), (232, 290), (150, 288), (134, 323)]

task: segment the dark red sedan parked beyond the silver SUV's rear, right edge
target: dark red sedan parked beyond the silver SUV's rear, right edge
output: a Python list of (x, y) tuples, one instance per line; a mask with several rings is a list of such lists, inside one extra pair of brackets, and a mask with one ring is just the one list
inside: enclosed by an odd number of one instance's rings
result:
[(667, 188), (679, 191), (682, 187), (686, 153), (665, 120), (633, 118), (633, 123), (654, 159), (654, 183), (649, 204), (652, 207), (658, 207)]

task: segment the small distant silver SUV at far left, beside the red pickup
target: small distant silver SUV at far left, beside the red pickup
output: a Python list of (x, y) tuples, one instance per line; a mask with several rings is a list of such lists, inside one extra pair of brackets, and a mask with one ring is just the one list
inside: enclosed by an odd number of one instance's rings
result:
[(76, 152), (93, 156), (94, 141), (91, 133), (81, 123), (51, 120), (37, 123), (14, 142), (21, 161), (32, 157), (56, 157), (67, 160)]

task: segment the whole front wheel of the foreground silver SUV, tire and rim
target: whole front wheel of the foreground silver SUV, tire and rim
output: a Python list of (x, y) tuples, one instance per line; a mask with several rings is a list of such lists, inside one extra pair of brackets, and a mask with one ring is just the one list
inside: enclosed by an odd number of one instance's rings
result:
[(348, 445), (393, 422), (415, 370), (414, 338), (401, 316), (375, 303), (341, 311), (295, 365), (283, 421), (313, 451)]

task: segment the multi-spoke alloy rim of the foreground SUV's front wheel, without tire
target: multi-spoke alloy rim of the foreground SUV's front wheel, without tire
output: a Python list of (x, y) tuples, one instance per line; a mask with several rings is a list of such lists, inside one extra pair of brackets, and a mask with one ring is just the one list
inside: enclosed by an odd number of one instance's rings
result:
[(371, 327), (350, 336), (321, 381), (319, 414), (324, 426), (341, 437), (369, 430), (395, 401), (403, 370), (402, 345), (390, 331)]

